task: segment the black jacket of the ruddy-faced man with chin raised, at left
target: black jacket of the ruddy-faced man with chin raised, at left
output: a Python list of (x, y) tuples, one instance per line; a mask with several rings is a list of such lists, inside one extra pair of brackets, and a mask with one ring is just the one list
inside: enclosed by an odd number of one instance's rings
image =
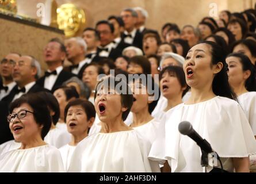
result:
[[(70, 79), (72, 76), (76, 76), (75, 74), (72, 74), (71, 72), (62, 70), (58, 76), (58, 78), (56, 79), (54, 86), (52, 86), (52, 93), (54, 92), (54, 90), (59, 87), (62, 86), (62, 83), (67, 81), (68, 79)], [(37, 85), (44, 87), (44, 80), (45, 80), (45, 76), (41, 77), (40, 79), (37, 80)]]

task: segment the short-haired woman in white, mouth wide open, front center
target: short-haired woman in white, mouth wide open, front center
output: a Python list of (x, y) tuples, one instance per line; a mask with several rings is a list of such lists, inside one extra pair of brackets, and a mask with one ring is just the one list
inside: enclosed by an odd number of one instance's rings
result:
[(112, 76), (104, 78), (94, 98), (101, 132), (77, 145), (68, 172), (151, 172), (149, 141), (124, 123), (133, 102), (127, 83)]

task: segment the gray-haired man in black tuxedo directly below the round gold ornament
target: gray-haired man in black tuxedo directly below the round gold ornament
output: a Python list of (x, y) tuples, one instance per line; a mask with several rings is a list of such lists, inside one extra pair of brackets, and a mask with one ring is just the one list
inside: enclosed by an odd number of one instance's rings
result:
[(67, 51), (67, 59), (72, 63), (70, 72), (82, 78), (83, 70), (91, 60), (86, 60), (85, 53), (87, 51), (87, 44), (81, 37), (71, 37), (65, 41)]

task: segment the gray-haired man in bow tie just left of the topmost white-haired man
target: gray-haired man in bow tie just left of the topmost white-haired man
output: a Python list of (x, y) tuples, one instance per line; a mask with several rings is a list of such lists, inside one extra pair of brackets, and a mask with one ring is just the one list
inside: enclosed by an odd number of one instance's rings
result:
[(122, 39), (127, 44), (142, 49), (142, 33), (136, 29), (137, 13), (135, 10), (128, 8), (121, 11), (121, 18), (124, 21), (124, 34)]

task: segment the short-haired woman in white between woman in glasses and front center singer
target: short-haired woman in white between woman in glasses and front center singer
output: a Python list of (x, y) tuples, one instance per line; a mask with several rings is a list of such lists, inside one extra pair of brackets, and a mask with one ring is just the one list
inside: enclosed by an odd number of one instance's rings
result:
[(75, 147), (88, 136), (89, 129), (93, 125), (95, 119), (94, 106), (85, 99), (74, 99), (74, 101), (67, 104), (64, 119), (67, 124), (67, 131), (72, 135), (70, 143), (59, 148), (64, 168), (67, 171)]

